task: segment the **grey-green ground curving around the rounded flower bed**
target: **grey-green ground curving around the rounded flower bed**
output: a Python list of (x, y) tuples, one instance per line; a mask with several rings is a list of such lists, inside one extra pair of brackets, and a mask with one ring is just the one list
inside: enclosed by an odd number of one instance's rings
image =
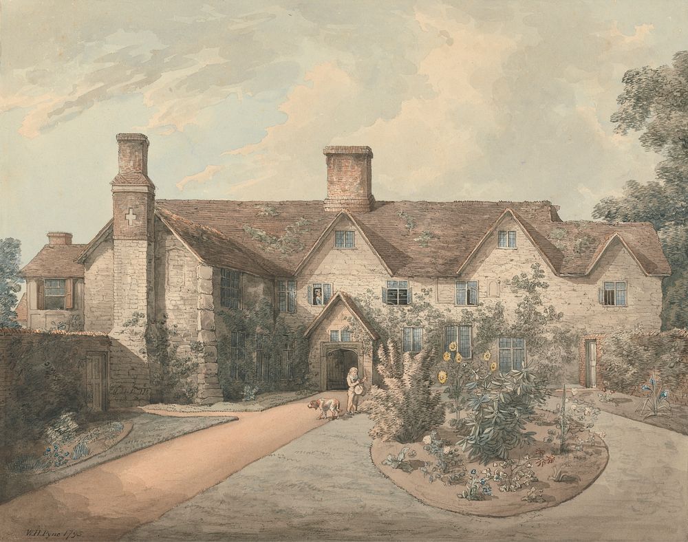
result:
[(329, 422), (125, 539), (687, 539), (685, 435), (601, 413), (610, 462), (588, 490), (491, 519), (426, 506), (392, 484), (369, 459), (370, 426), (365, 415)]

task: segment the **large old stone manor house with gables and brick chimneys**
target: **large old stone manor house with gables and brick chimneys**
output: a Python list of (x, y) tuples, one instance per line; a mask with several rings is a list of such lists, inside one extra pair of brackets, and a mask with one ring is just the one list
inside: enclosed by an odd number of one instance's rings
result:
[[(143, 333), (163, 314), (182, 347), (202, 347), (197, 400), (222, 400), (219, 333), (229, 334), (236, 352), (247, 339), (223, 329), (220, 314), (255, 299), (271, 300), (275, 318), (305, 329), (310, 375), (322, 390), (341, 388), (352, 365), (373, 374), (378, 334), (363, 296), (383, 307), (412, 305), (430, 292), (431, 303), (455, 317), (444, 336), (470, 358), (473, 329), (462, 311), (494, 301), (513, 309), (506, 281), (533, 263), (550, 285), (544, 302), (567, 325), (597, 334), (660, 328), (661, 282), (671, 270), (650, 224), (562, 221), (550, 202), (378, 202), (369, 147), (325, 147), (324, 201), (155, 199), (147, 137), (120, 133), (117, 142), (111, 219), (85, 245), (49, 233), (23, 269), (28, 287), (19, 311), (32, 329), (107, 334), (96, 374), (109, 404), (149, 400)], [(428, 330), (397, 332), (405, 351), (420, 351)], [(498, 343), (502, 369), (528, 357), (521, 338)], [(288, 378), (288, 345), (283, 354)], [(594, 366), (594, 345), (586, 356)], [(259, 348), (254, 357), (260, 380), (268, 371)], [(594, 385), (594, 371), (586, 382)]]

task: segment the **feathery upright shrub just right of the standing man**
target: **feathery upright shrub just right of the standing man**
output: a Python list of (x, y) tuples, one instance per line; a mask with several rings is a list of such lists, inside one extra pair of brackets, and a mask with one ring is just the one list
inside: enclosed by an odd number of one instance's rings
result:
[(401, 443), (416, 442), (444, 422), (441, 392), (432, 389), (433, 352), (427, 349), (400, 358), (394, 343), (380, 345), (378, 373), (384, 387), (373, 386), (365, 408), (374, 422), (370, 436)]

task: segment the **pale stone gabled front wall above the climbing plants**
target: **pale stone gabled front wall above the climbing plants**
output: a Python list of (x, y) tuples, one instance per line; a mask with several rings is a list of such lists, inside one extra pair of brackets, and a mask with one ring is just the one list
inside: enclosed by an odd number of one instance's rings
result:
[[(345, 217), (334, 228), (354, 229)], [(367, 246), (361, 235), (356, 233), (356, 248), (334, 248), (334, 231), (312, 254), (299, 277), (297, 277), (297, 312), (285, 315), (291, 325), (308, 325), (322, 307), (308, 304), (308, 285), (332, 283), (332, 292), (343, 290), (355, 298), (374, 293), (375, 303), (383, 307), (381, 289), (389, 279), (408, 280), (417, 296), (422, 289), (432, 292), (438, 308), (455, 323), (461, 323), (463, 310), (471, 307), (455, 305), (455, 282), (477, 280), (480, 302), (491, 304), (502, 302), (508, 312), (513, 313), (519, 296), (508, 286), (507, 281), (515, 274), (530, 272), (530, 265), (540, 263), (545, 272), (545, 281), (550, 287), (544, 292), (546, 305), (554, 305), (563, 312), (564, 323), (581, 332), (600, 333), (611, 329), (659, 329), (662, 301), (660, 277), (647, 277), (638, 268), (634, 259), (620, 243), (610, 246), (589, 277), (557, 277), (540, 256), (524, 232), (510, 218), (505, 219), (498, 229), (517, 229), (517, 249), (497, 248), (497, 232), (486, 240), (475, 259), (466, 267), (460, 277), (389, 277), (382, 263)], [(418, 250), (422, 250), (419, 247)], [(598, 289), (603, 281), (627, 281), (627, 307), (604, 307), (598, 301)], [(375, 308), (375, 307), (372, 307)], [(402, 331), (399, 330), (398, 339)], [(312, 342), (312, 349), (317, 345)]]

